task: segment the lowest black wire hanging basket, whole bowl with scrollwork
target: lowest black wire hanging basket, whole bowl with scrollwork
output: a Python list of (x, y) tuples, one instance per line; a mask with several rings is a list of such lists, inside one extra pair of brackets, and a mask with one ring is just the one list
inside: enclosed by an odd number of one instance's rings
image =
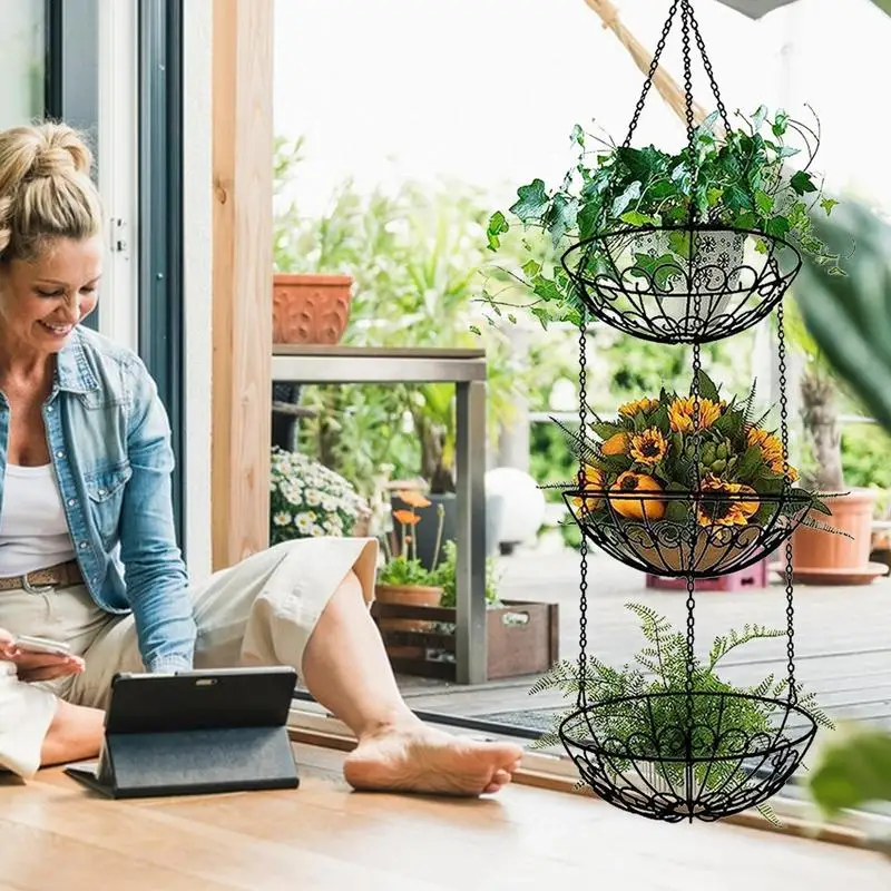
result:
[(581, 779), (640, 816), (713, 822), (775, 795), (816, 733), (800, 706), (742, 693), (650, 693), (589, 704), (559, 736)]

